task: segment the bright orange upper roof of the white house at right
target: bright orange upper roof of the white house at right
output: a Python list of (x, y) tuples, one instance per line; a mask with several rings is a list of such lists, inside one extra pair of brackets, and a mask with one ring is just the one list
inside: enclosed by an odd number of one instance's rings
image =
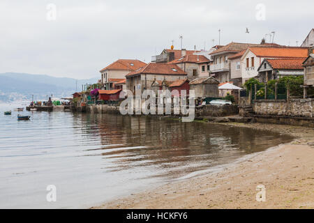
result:
[(261, 57), (303, 57), (308, 56), (308, 49), (301, 47), (249, 47), (251, 52)]

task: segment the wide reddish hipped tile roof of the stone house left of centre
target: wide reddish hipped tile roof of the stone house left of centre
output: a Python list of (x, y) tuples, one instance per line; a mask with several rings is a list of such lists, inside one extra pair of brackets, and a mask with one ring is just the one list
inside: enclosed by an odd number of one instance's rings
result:
[(149, 63), (147, 66), (139, 68), (128, 73), (126, 77), (140, 74), (155, 74), (155, 75), (186, 75), (186, 72), (181, 70), (176, 64), (169, 63)]

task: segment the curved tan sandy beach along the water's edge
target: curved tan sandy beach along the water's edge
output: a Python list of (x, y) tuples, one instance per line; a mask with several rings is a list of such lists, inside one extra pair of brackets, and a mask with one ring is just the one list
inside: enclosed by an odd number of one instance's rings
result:
[[(221, 123), (295, 137), (222, 171), (168, 183), (91, 208), (314, 208), (314, 130), (292, 125)], [(257, 202), (257, 185), (266, 201)]]

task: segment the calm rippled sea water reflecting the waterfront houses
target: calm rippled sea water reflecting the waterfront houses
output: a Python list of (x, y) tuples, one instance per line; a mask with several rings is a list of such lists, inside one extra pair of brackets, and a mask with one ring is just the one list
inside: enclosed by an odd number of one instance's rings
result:
[[(89, 208), (211, 170), (290, 137), (208, 123), (0, 105), (0, 208)], [(57, 201), (47, 202), (47, 185)]]

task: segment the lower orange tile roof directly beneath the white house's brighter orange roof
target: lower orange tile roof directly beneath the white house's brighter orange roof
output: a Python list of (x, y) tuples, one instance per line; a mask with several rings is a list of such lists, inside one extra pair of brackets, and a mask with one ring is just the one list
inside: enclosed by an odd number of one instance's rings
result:
[(304, 58), (266, 59), (273, 69), (304, 70)]

